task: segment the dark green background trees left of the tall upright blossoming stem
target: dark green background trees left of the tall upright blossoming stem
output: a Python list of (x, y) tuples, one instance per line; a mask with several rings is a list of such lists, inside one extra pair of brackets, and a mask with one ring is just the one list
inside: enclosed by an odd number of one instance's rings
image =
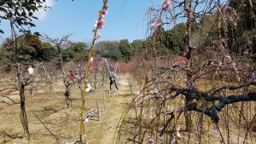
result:
[[(13, 57), (13, 44), (15, 43), (11, 39), (6, 38), (1, 45), (1, 50), (4, 51), (2, 55), (8, 57), (11, 55)], [(42, 43), (38, 35), (32, 35), (29, 32), (18, 37), (17, 44), (17, 58), (20, 62), (27, 60), (52, 60), (58, 55), (57, 48), (50, 43)], [(67, 42), (66, 45), (67, 48), (61, 54), (64, 61), (87, 60), (89, 49), (86, 43)]]

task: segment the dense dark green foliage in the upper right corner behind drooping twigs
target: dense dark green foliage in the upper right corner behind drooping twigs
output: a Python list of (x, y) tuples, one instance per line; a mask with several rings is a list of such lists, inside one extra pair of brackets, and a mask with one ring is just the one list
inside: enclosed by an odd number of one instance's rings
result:
[[(255, 55), (256, 36), (253, 33), (256, 30), (256, 0), (230, 1), (228, 7), (232, 8), (226, 9), (230, 14), (234, 14), (234, 9), (236, 10), (236, 19), (227, 23), (230, 52), (240, 55), (249, 52)], [(224, 35), (224, 29), (221, 28), (221, 30)], [(252, 43), (252, 46), (249, 46), (249, 43)], [(256, 56), (254, 57), (256, 59)]]

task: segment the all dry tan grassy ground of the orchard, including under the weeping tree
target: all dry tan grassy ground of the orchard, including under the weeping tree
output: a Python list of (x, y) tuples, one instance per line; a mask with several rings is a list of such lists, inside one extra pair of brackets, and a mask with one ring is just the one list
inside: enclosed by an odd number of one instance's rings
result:
[[(103, 95), (105, 95), (105, 110), (98, 121), (97, 117), (90, 118), (89, 123), (85, 124), (85, 134), (87, 136), (87, 141), (93, 144), (107, 144), (111, 143), (113, 140), (114, 131), (119, 122), (122, 112), (128, 107), (127, 101), (131, 100), (131, 91), (128, 85), (127, 78), (131, 78), (128, 75), (119, 76), (119, 91), (113, 93), (108, 101), (108, 83), (105, 83), (103, 87), (96, 89), (94, 92), (87, 93), (86, 95), (86, 104), (85, 112), (88, 112), (91, 108), (96, 108), (96, 100), (100, 102), (100, 108), (104, 108)], [(202, 83), (202, 82), (201, 82)], [(209, 83), (205, 81), (205, 83)], [(38, 87), (40, 85), (38, 84)], [(138, 85), (134, 81), (133, 93), (136, 93), (138, 90)], [(201, 84), (203, 87), (203, 84)], [(201, 88), (209, 89), (209, 88)], [(24, 135), (22, 126), (20, 124), (20, 105), (15, 104), (9, 106), (6, 103), (0, 103), (0, 143), (8, 144), (26, 144), (26, 143), (61, 143), (65, 141), (74, 141), (79, 138), (79, 115), (80, 115), (80, 105), (81, 105), (81, 95), (78, 86), (72, 88), (72, 108), (66, 108), (66, 101), (63, 95), (64, 86), (60, 81), (56, 81), (54, 84), (54, 89), (50, 89), (50, 86), (46, 85), (42, 89), (34, 91), (33, 95), (29, 95), (26, 92), (26, 114), (28, 118), (28, 125), (30, 130), (30, 141), (27, 140), (26, 135)], [(14, 101), (19, 101), (20, 97), (17, 91), (9, 93), (9, 98)], [(1, 101), (6, 101), (11, 104), (12, 101), (9, 101), (3, 96), (0, 97)], [(166, 105), (166, 110), (173, 110), (175, 107), (183, 105), (183, 101), (180, 98), (170, 101)], [(153, 106), (153, 105), (152, 105)], [(255, 102), (244, 103), (244, 107), (249, 107), (253, 111), (255, 107)], [(229, 117), (225, 115), (225, 112), (220, 113), (221, 121), (218, 124), (218, 131), (212, 130), (213, 123), (210, 118), (204, 118), (204, 126), (201, 127), (198, 124), (198, 118), (200, 118), (201, 113), (193, 113), (193, 128), (191, 130), (190, 139), (187, 136), (184, 124), (183, 115), (178, 119), (177, 126), (181, 128), (181, 139), (178, 140), (178, 143), (200, 143), (199, 136), (195, 135), (196, 131), (200, 131), (201, 134), (201, 143), (222, 143), (221, 135), (223, 135), (224, 140), (230, 138), (230, 143), (255, 143), (255, 132), (250, 130), (247, 139), (246, 127), (241, 121), (243, 118), (238, 112), (245, 112), (244, 116), (247, 117), (247, 122), (252, 119), (252, 114), (248, 114), (248, 109), (241, 111), (241, 109), (236, 110), (236, 108), (241, 108), (241, 104), (236, 106), (230, 106)], [(223, 110), (223, 111), (226, 111)], [(246, 113), (247, 112), (247, 113)], [(255, 112), (254, 112), (255, 113)], [(39, 121), (39, 119), (45, 124), (45, 126), (50, 130), (54, 135), (51, 135), (49, 130), (47, 130), (44, 125)], [(144, 118), (145, 125), (150, 122), (150, 117), (154, 112), (150, 112), (150, 107), (144, 108)], [(163, 124), (166, 122), (167, 117), (162, 117), (157, 122), (158, 124)], [(133, 143), (137, 141), (137, 132), (138, 132), (138, 123), (135, 118), (134, 109), (131, 108), (128, 112), (127, 117), (124, 119), (125, 123), (123, 129), (119, 131), (120, 143)], [(227, 123), (228, 121), (228, 123)], [(229, 129), (226, 129), (226, 124), (229, 124)], [(173, 124), (170, 124), (169, 130), (172, 129)], [(160, 130), (161, 126), (159, 127)], [(229, 130), (229, 135), (228, 134)], [(221, 134), (221, 135), (220, 135)], [(148, 133), (146, 133), (148, 135)], [(158, 141), (160, 143), (166, 143), (167, 139), (170, 139), (172, 133), (166, 133), (162, 137), (159, 137)], [(134, 138), (135, 137), (135, 138)], [(146, 139), (144, 141), (146, 143)]]

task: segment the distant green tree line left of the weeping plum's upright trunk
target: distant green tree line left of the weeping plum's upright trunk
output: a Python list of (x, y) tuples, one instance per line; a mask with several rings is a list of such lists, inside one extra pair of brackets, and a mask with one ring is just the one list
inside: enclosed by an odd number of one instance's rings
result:
[[(179, 24), (171, 30), (164, 31), (163, 37), (158, 39), (158, 55), (169, 55), (171, 52), (183, 51), (183, 26)], [(177, 35), (174, 35), (175, 32)], [(44, 37), (24, 32), (18, 37), (18, 61), (30, 60), (52, 60), (58, 55), (58, 48), (52, 43), (41, 40)], [(165, 40), (163, 40), (165, 39)], [(12, 62), (13, 50), (11, 38), (6, 38), (1, 44), (1, 65)], [(151, 43), (150, 37), (146, 40), (134, 40), (129, 43), (127, 39), (120, 41), (102, 41), (96, 43), (96, 58), (109, 58), (117, 61), (128, 62), (134, 55), (140, 55), (147, 51), (148, 44)], [(61, 48), (61, 55), (64, 61), (86, 60), (88, 57), (89, 43), (67, 41)]]

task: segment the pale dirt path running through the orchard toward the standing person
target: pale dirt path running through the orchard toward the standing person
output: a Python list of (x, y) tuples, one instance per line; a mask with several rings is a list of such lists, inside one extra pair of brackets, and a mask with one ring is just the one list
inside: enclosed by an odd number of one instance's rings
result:
[(92, 122), (92, 125), (96, 125), (96, 127), (95, 130), (89, 131), (89, 141), (90, 137), (94, 137), (94, 140), (90, 141), (91, 143), (109, 144), (113, 141), (113, 135), (121, 114), (128, 106), (127, 101), (131, 100), (128, 78), (129, 76), (126, 75), (118, 79), (118, 92), (114, 92), (110, 101), (106, 102), (106, 111), (102, 114), (100, 121)]

